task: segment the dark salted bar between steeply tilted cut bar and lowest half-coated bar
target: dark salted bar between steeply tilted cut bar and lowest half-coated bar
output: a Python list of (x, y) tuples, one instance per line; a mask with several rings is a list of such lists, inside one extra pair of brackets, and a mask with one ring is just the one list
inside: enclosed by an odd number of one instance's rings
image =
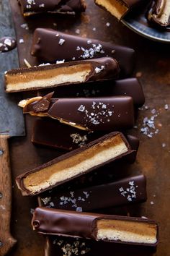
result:
[(70, 191), (53, 189), (39, 197), (39, 205), (63, 210), (91, 211), (146, 201), (146, 177), (143, 175), (120, 179)]

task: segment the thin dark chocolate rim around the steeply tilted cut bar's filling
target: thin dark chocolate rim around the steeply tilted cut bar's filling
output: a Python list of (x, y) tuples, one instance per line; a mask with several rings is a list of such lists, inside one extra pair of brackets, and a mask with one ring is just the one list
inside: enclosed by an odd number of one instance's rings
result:
[(104, 165), (107, 164), (107, 163), (112, 163), (113, 161), (116, 161), (117, 159), (120, 159), (120, 158), (124, 157), (125, 155), (130, 154), (133, 150), (131, 150), (128, 141), (125, 139), (125, 136), (122, 135), (121, 132), (110, 132), (109, 134), (104, 135), (103, 137), (100, 137), (100, 138), (98, 138), (97, 140), (94, 140), (94, 141), (92, 141), (92, 142), (89, 142), (88, 144), (84, 145), (84, 147), (82, 147), (82, 148), (78, 148), (78, 149), (73, 150), (73, 151), (71, 151), (71, 152), (69, 152), (69, 153), (66, 153), (66, 154), (64, 154), (64, 155), (61, 155), (61, 156), (59, 156), (58, 158), (54, 158), (52, 161), (49, 161), (48, 163), (44, 163), (44, 164), (42, 164), (41, 166), (38, 166), (37, 168), (34, 168), (34, 169), (30, 170), (30, 171), (25, 172), (24, 174), (20, 174), (19, 176), (17, 176), (16, 182), (17, 182), (17, 185), (18, 185), (19, 189), (22, 190), (22, 195), (36, 195), (36, 194), (40, 194), (40, 192), (44, 192), (44, 191), (46, 191), (46, 190), (48, 190), (48, 189), (51, 189), (51, 188), (53, 188), (53, 187), (57, 187), (57, 186), (60, 185), (60, 184), (66, 183), (66, 182), (68, 182), (68, 181), (70, 181), (70, 180), (72, 180), (72, 179), (75, 179), (76, 177), (81, 176), (82, 174), (77, 174), (76, 176), (73, 176), (73, 177), (71, 177), (70, 179), (63, 180), (63, 181), (61, 181), (61, 182), (57, 182), (57, 183), (56, 183), (55, 185), (53, 185), (53, 186), (50, 186), (50, 184), (49, 184), (49, 187), (48, 187), (48, 188), (42, 189), (42, 190), (37, 191), (37, 192), (35, 192), (35, 193), (31, 192), (30, 190), (28, 190), (28, 189), (24, 186), (24, 178), (27, 177), (29, 174), (35, 173), (35, 172), (37, 172), (37, 171), (40, 171), (40, 170), (42, 170), (43, 168), (46, 168), (46, 167), (48, 167), (48, 166), (52, 166), (53, 164), (58, 163), (58, 162), (63, 161), (63, 160), (66, 160), (67, 158), (71, 158), (71, 156), (73, 156), (73, 155), (79, 154), (79, 153), (83, 152), (84, 150), (91, 148), (91, 147), (94, 146), (94, 145), (98, 145), (99, 143), (104, 142), (104, 140), (109, 140), (110, 138), (115, 137), (115, 136), (118, 136), (118, 135), (122, 138), (123, 142), (125, 142), (125, 145), (127, 146), (128, 151), (127, 151), (126, 153), (120, 154), (119, 156), (117, 156), (117, 157), (115, 157), (115, 158), (110, 159), (109, 161), (106, 161), (105, 163), (101, 163), (101, 164), (98, 164), (98, 165), (96, 165), (96, 166), (93, 166), (92, 168), (89, 168), (88, 170), (86, 170), (86, 171), (84, 172), (84, 174), (87, 174), (87, 173), (89, 173), (90, 171), (94, 171), (96, 168), (99, 168), (99, 167), (101, 167), (101, 166), (104, 166)]

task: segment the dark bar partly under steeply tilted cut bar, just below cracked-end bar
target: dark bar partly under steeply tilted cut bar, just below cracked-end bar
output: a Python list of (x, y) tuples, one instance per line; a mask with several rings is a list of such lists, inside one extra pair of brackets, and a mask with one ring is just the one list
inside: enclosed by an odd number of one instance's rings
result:
[[(102, 135), (104, 135), (104, 132), (86, 132), (61, 124), (53, 119), (38, 118), (35, 119), (32, 130), (32, 142), (52, 148), (74, 150), (81, 148), (92, 140), (97, 140)], [(133, 150), (126, 158), (128, 162), (133, 163), (138, 152), (139, 140), (132, 135), (127, 135), (126, 137)]]

